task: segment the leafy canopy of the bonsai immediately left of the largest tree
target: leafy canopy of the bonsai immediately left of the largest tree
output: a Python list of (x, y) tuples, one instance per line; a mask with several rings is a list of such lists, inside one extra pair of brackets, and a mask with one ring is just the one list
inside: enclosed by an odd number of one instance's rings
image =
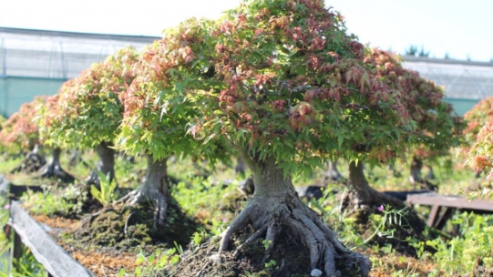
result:
[(201, 87), (202, 65), (192, 54), (201, 51), (207, 36), (201, 25), (207, 25), (207, 21), (190, 19), (170, 28), (162, 39), (140, 53), (136, 78), (120, 95), (124, 118), (119, 149), (144, 151), (154, 159), (197, 154), (197, 141), (186, 136), (187, 124), (197, 117), (197, 108), (190, 104), (187, 92)]

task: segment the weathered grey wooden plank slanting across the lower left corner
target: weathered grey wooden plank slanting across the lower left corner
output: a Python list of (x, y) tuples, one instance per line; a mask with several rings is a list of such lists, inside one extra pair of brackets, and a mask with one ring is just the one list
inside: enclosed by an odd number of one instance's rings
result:
[(9, 224), (15, 229), (22, 242), (33, 252), (38, 262), (55, 277), (93, 277), (94, 274), (72, 258), (56, 244), (35, 220), (23, 210), (17, 201), (10, 206)]

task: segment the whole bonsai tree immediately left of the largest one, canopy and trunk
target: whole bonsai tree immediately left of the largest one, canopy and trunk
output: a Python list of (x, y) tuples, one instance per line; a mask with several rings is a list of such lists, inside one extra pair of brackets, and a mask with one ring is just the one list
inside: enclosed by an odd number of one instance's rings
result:
[(183, 72), (181, 68), (190, 63), (190, 46), (206, 34), (199, 24), (190, 20), (170, 28), (161, 40), (145, 48), (135, 66), (136, 78), (120, 95), (124, 118), (118, 149), (142, 154), (148, 160), (145, 180), (122, 200), (129, 205), (146, 200), (154, 202), (155, 227), (164, 225), (169, 207), (167, 160), (172, 155), (179, 158), (200, 155), (198, 141), (187, 136), (187, 125), (197, 117), (197, 109), (190, 104), (186, 93), (198, 86), (200, 74)]

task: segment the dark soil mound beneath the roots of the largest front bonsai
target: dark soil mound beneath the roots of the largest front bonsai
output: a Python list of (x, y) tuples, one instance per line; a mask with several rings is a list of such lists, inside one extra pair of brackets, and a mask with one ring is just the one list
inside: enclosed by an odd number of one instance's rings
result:
[[(189, 250), (181, 256), (178, 265), (173, 267), (170, 272), (166, 272), (166, 276), (251, 276), (248, 273), (258, 277), (310, 276), (310, 252), (308, 248), (298, 241), (288, 241), (287, 238), (293, 236), (288, 236), (284, 231), (278, 236), (279, 239), (268, 257), (265, 257), (265, 245), (262, 243), (262, 238), (241, 248), (237, 257), (234, 257), (233, 253), (236, 248), (252, 236), (252, 233), (253, 231), (250, 231), (232, 237), (231, 241), (234, 241), (234, 247), (231, 251), (221, 253), (222, 261), (220, 264), (211, 260), (211, 256), (218, 252), (220, 237), (213, 237), (200, 246), (190, 245)], [(344, 268), (342, 262), (337, 262), (336, 267), (341, 270), (342, 276), (358, 276), (353, 269)]]

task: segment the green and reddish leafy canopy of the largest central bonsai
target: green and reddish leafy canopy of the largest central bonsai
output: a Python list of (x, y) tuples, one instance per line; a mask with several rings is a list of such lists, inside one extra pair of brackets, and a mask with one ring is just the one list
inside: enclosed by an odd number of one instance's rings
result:
[(197, 138), (229, 140), (285, 172), (334, 154), (394, 159), (413, 128), (401, 93), (365, 65), (365, 47), (323, 1), (248, 1), (214, 22), (194, 58)]

